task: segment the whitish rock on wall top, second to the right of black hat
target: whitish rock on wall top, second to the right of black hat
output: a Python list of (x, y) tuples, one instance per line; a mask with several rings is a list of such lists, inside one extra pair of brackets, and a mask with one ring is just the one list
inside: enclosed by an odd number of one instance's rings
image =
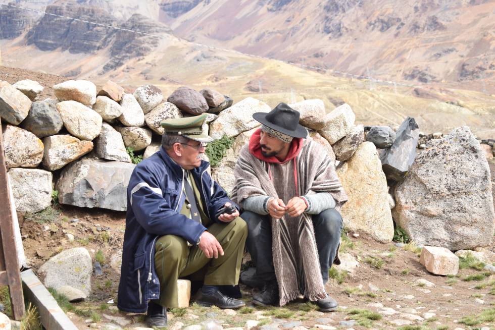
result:
[(319, 133), (333, 145), (351, 132), (355, 120), (353, 109), (344, 103), (325, 116), (326, 124)]

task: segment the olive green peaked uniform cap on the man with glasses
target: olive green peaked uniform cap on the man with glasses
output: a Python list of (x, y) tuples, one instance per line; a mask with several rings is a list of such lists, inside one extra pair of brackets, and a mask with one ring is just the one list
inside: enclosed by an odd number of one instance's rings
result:
[(166, 119), (160, 123), (166, 134), (177, 134), (185, 136), (198, 142), (212, 142), (213, 138), (208, 135), (208, 124), (205, 123), (206, 114), (187, 118)]

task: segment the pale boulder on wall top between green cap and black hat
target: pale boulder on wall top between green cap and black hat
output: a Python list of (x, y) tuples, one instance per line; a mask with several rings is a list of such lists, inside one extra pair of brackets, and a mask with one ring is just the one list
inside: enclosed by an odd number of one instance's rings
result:
[(256, 98), (247, 97), (222, 111), (217, 120), (210, 125), (210, 136), (220, 139), (222, 136), (237, 136), (261, 124), (253, 119), (254, 113), (268, 113), (270, 106)]

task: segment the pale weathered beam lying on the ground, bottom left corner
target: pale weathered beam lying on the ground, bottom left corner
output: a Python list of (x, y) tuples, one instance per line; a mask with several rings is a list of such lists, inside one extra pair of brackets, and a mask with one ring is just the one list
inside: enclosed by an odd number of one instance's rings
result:
[(38, 308), (41, 324), (50, 330), (77, 330), (31, 269), (21, 273), (22, 285), (28, 299)]

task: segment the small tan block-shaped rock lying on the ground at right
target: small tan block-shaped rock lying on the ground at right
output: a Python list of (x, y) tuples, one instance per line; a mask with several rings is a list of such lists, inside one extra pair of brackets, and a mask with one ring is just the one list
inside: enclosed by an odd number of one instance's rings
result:
[(437, 275), (456, 275), (459, 271), (459, 257), (444, 247), (424, 246), (419, 262)]

